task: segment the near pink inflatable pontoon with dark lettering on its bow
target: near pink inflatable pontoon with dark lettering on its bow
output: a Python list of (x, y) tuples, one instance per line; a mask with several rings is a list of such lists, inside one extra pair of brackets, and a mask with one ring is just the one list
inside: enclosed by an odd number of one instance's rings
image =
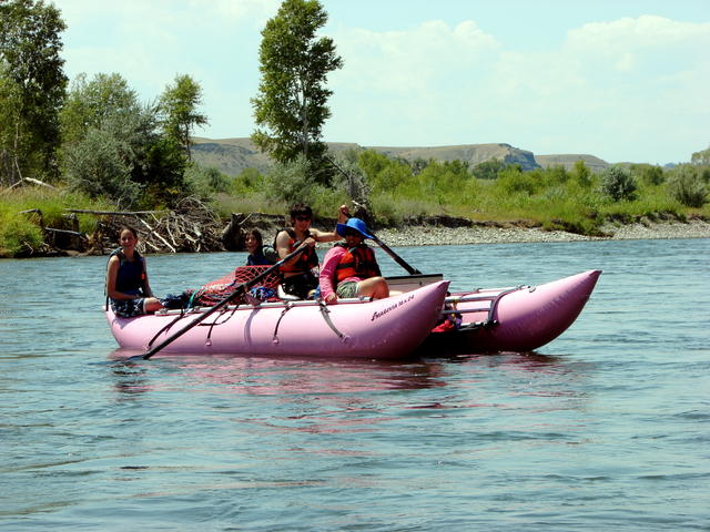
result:
[[(314, 301), (225, 306), (156, 356), (164, 352), (404, 358), (440, 319), (447, 288), (448, 282), (438, 280), (374, 301), (344, 299), (327, 306)], [(168, 310), (119, 318), (108, 309), (111, 332), (123, 348), (114, 356), (136, 355), (158, 346), (206, 310), (185, 315)]]

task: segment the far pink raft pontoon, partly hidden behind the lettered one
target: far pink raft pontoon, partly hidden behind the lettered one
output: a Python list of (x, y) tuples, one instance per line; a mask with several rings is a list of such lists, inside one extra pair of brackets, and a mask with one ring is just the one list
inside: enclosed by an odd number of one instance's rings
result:
[[(538, 286), (452, 294), (443, 310), (447, 319), (427, 337), (420, 352), (454, 355), (537, 349), (572, 325), (600, 274), (599, 269), (590, 269)], [(395, 277), (390, 285), (406, 286), (406, 279), (416, 277)], [(424, 277), (420, 283), (426, 283)]]

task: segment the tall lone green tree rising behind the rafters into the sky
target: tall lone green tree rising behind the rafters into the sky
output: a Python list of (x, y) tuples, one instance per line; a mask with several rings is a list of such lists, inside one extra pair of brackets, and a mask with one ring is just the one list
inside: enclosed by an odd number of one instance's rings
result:
[(321, 165), (326, 151), (321, 133), (331, 116), (326, 103), (333, 92), (325, 83), (327, 74), (343, 65), (333, 40), (316, 37), (326, 21), (317, 0), (284, 0), (262, 31), (252, 141), (280, 163), (303, 155)]

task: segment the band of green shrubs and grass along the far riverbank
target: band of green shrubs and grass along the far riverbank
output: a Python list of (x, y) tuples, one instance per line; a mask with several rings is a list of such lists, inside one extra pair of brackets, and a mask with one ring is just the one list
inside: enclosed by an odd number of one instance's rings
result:
[[(589, 172), (581, 162), (571, 171), (523, 172), (501, 165), (491, 173), (487, 165), (485, 177), (479, 177), (477, 167), (460, 162), (413, 164), (374, 152), (346, 153), (334, 163), (337, 171), (331, 168), (329, 180), (320, 182), (312, 178), (313, 168), (298, 161), (266, 174), (247, 170), (237, 176), (192, 165), (185, 181), (214, 214), (202, 217), (212, 233), (215, 226), (226, 225), (232, 213), (283, 215), (288, 205), (304, 202), (317, 216), (332, 217), (351, 198), (367, 206), (376, 228), (446, 225), (448, 219), (454, 225), (490, 222), (595, 236), (604, 234), (601, 227), (609, 221), (710, 219), (707, 165), (672, 170), (615, 166), (601, 174)], [(92, 200), (62, 187), (29, 184), (0, 192), (0, 256), (51, 255), (58, 247), (89, 250), (92, 235), (102, 223), (105, 227), (109, 215), (70, 209), (119, 211), (108, 200)], [(70, 238), (72, 233), (83, 236)], [(156, 246), (153, 250), (180, 250), (170, 247), (173, 249)], [(211, 237), (200, 250), (215, 248), (220, 248), (219, 238)]]

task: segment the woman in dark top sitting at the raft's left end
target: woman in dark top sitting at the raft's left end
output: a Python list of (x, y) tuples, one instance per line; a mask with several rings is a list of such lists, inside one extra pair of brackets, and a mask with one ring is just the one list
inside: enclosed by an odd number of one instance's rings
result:
[(135, 245), (138, 233), (132, 227), (122, 227), (119, 234), (121, 248), (111, 254), (106, 267), (106, 295), (113, 311), (130, 318), (141, 314), (154, 313), (163, 308), (148, 282), (145, 258)]

